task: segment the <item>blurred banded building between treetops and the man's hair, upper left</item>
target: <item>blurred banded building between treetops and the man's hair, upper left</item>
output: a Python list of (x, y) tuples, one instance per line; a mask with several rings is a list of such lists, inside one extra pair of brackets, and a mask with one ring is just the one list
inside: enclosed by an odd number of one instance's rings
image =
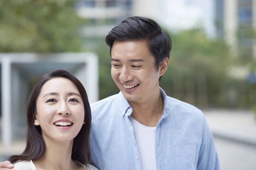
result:
[(85, 49), (98, 48), (108, 32), (132, 15), (134, 0), (79, 0), (77, 12), (86, 20), (81, 28)]

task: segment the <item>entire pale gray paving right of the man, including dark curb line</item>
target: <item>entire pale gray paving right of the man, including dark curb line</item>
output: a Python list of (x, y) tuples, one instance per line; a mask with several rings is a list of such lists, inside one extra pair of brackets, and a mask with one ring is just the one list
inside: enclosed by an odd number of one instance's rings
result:
[(221, 170), (256, 170), (256, 119), (252, 111), (203, 111), (215, 138)]

